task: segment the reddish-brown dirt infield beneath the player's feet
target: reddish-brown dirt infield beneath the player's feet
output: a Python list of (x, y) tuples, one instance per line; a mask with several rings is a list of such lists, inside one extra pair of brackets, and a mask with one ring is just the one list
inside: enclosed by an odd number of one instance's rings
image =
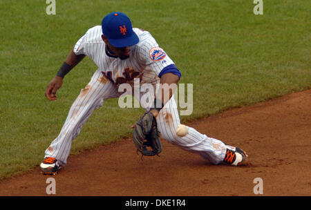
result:
[[(247, 151), (250, 165), (214, 166), (163, 141), (160, 157), (135, 153), (131, 139), (70, 155), (53, 176), (56, 195), (311, 195), (311, 90), (191, 122)], [(39, 167), (0, 182), (0, 195), (47, 195)]]

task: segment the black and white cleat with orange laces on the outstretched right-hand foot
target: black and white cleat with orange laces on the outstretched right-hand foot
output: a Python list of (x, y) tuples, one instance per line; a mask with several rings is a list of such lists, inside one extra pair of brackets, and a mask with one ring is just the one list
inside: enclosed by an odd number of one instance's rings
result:
[(248, 155), (242, 149), (235, 146), (226, 145), (227, 151), (223, 162), (232, 166), (247, 166)]

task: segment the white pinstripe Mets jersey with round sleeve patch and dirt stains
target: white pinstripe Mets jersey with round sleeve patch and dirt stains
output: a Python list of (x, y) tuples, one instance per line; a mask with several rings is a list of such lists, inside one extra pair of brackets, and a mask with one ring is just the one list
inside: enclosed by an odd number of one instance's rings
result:
[[(106, 55), (106, 44), (102, 40), (102, 26), (90, 28), (75, 44), (73, 52), (91, 57), (104, 76), (115, 84), (129, 83), (140, 77), (140, 84), (155, 84), (160, 81), (161, 70), (174, 64), (169, 56), (159, 48), (152, 35), (145, 30), (133, 28), (140, 41), (131, 46), (129, 58), (120, 59)], [(158, 54), (157, 54), (158, 53)]]

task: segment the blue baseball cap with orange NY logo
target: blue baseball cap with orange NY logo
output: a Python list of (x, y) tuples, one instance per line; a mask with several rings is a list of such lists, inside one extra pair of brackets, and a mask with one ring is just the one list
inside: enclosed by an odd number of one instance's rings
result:
[(111, 12), (102, 19), (102, 33), (116, 48), (132, 46), (140, 41), (131, 20), (122, 12)]

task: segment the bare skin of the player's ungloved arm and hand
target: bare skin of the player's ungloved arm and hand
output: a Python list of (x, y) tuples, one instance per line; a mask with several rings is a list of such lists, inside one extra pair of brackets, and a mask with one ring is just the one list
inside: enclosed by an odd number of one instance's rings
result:
[[(82, 61), (82, 59), (85, 57), (85, 55), (75, 55), (75, 53), (73, 53), (73, 50), (70, 51), (70, 53), (68, 54), (68, 56), (65, 59), (65, 62), (71, 66), (71, 68), (75, 67), (77, 64), (79, 64), (80, 61)], [(55, 76), (50, 83), (48, 84), (48, 86), (46, 87), (46, 97), (50, 100), (50, 101), (54, 101), (57, 99), (56, 97), (56, 92), (59, 88), (61, 88), (63, 84), (63, 78), (62, 77), (58, 77)]]

